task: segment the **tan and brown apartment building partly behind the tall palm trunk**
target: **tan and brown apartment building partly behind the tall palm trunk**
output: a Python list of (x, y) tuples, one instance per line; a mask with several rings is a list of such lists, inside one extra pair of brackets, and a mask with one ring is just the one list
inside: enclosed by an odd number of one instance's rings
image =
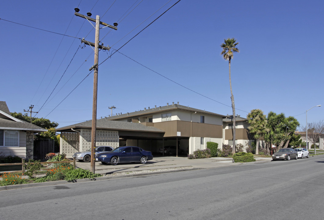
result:
[[(254, 141), (253, 137), (249, 134), (248, 127), (248, 119), (237, 115), (235, 123), (235, 143), (243, 144), (244, 149)], [(260, 141), (260, 146), (262, 142)], [(233, 146), (233, 115), (227, 115), (223, 119), (223, 143)]]

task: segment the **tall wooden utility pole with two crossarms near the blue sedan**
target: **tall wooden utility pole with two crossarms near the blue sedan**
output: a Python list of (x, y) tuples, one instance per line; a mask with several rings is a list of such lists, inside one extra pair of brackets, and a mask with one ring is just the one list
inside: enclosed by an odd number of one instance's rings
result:
[[(76, 11), (76, 10), (75, 10)], [(96, 35), (95, 35), (95, 43), (91, 43), (82, 39), (82, 42), (88, 44), (90, 46), (95, 46), (95, 61), (94, 65), (89, 69), (91, 71), (94, 69), (93, 75), (93, 103), (92, 103), (92, 127), (91, 127), (91, 163), (90, 163), (90, 171), (95, 173), (95, 155), (96, 155), (96, 128), (97, 128), (97, 94), (98, 94), (98, 61), (99, 61), (99, 47), (100, 49), (109, 50), (109, 47), (104, 47), (99, 45), (99, 28), (100, 24), (105, 25), (106, 27), (117, 30), (117, 23), (114, 23), (114, 26), (106, 24), (100, 21), (99, 15), (96, 16), (96, 20), (85, 15), (79, 14), (77, 12), (74, 13), (76, 16), (81, 18), (86, 18), (88, 21), (96, 22)], [(91, 16), (91, 13), (88, 13)]]

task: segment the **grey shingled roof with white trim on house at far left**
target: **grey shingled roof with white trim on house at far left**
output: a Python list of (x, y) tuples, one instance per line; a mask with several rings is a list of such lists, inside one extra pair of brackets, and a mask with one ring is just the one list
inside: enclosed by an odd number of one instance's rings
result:
[(9, 108), (4, 101), (0, 101), (0, 129), (30, 130), (35, 132), (47, 131), (45, 128), (41, 128), (37, 125), (30, 124), (11, 116)]

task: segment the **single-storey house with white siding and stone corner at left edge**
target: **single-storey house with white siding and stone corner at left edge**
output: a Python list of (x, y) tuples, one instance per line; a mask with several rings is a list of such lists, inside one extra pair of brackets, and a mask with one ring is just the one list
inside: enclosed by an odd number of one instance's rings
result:
[(0, 154), (33, 159), (34, 133), (47, 129), (11, 116), (6, 102), (0, 101)]

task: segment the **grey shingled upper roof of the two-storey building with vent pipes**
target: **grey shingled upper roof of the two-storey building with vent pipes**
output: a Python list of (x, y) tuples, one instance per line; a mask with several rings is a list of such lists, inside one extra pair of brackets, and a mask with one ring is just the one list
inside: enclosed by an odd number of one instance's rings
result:
[(144, 109), (140, 111), (135, 111), (135, 112), (130, 112), (130, 113), (125, 113), (121, 114), (118, 116), (110, 116), (106, 117), (107, 120), (116, 120), (116, 119), (121, 119), (121, 118), (129, 118), (129, 117), (135, 117), (135, 116), (145, 116), (145, 115), (150, 115), (153, 113), (158, 113), (158, 112), (166, 112), (169, 110), (184, 110), (184, 111), (190, 111), (190, 112), (197, 112), (201, 114), (208, 114), (208, 115), (214, 115), (214, 116), (221, 116), (221, 117), (226, 117), (224, 115), (216, 114), (213, 112), (208, 112), (205, 110), (197, 109), (197, 108), (191, 108), (189, 106), (184, 106), (184, 105), (179, 105), (179, 104), (172, 104), (172, 105), (166, 105), (166, 106), (159, 106), (155, 108), (149, 108), (149, 109)]

